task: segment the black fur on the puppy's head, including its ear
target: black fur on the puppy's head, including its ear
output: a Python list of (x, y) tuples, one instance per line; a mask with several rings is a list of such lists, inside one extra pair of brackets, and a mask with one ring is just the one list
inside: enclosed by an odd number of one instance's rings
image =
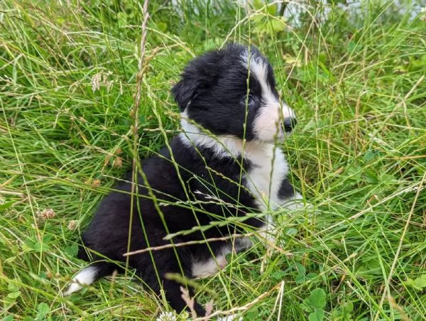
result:
[[(229, 45), (224, 50), (204, 54), (187, 65), (182, 80), (173, 87), (176, 102), (181, 111), (187, 107), (187, 114), (216, 135), (234, 135), (253, 139), (253, 119), (261, 107), (261, 87), (255, 77), (249, 77), (249, 93), (255, 104), (246, 109), (247, 77), (249, 71), (241, 66), (241, 54), (246, 47)], [(268, 65), (268, 84), (276, 97), (273, 70), (268, 60), (251, 48), (252, 55)], [(244, 122), (246, 129), (244, 131)]]

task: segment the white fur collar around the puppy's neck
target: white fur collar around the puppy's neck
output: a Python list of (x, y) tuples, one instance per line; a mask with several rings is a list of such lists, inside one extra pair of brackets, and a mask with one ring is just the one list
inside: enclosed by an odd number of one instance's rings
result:
[[(187, 119), (186, 113), (182, 113), (180, 120), (182, 133), (179, 134), (180, 140), (185, 146), (191, 148), (209, 149), (213, 156), (217, 158), (244, 158), (258, 159), (273, 157), (273, 151), (276, 148), (272, 143), (263, 143), (260, 141), (243, 141), (236, 136), (214, 135), (202, 129), (201, 126), (194, 124)], [(259, 164), (261, 165), (261, 164)]]

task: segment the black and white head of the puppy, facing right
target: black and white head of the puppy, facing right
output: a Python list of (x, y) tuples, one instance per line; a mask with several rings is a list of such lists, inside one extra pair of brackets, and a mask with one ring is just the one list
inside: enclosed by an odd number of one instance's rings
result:
[(253, 47), (230, 44), (195, 58), (172, 92), (180, 111), (215, 135), (271, 142), (296, 124), (271, 65)]

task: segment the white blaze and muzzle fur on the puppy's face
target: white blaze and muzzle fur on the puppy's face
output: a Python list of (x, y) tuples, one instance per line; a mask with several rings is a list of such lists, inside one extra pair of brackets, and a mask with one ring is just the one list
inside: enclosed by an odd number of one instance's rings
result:
[[(273, 94), (271, 86), (268, 84), (268, 65), (256, 53), (246, 51), (241, 55), (243, 65), (250, 67), (251, 75), (261, 85), (262, 107), (254, 120), (253, 132), (260, 141), (273, 141), (274, 138), (283, 138), (284, 131), (280, 124), (283, 119), (295, 117), (293, 109), (286, 104), (280, 103)], [(250, 59), (250, 61), (249, 61)]]

